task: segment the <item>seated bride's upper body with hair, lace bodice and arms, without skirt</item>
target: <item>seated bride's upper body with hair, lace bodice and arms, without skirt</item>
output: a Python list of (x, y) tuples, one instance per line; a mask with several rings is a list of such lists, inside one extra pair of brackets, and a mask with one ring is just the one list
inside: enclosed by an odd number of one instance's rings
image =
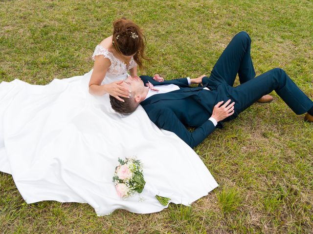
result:
[(127, 71), (132, 77), (137, 76), (137, 65), (142, 68), (141, 59), (149, 60), (144, 54), (143, 39), (140, 28), (132, 20), (113, 22), (113, 35), (101, 41), (92, 55), (94, 67), (89, 81), (90, 94), (102, 96), (108, 93), (120, 101), (124, 100), (118, 96), (129, 98), (128, 90), (119, 84), (127, 78)]

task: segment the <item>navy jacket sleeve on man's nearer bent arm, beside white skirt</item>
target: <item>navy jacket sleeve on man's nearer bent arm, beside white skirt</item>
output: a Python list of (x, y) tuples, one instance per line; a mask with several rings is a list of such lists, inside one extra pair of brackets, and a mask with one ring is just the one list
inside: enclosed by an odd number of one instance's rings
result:
[(150, 113), (149, 117), (159, 128), (175, 133), (185, 141), (191, 148), (199, 145), (207, 136), (215, 130), (215, 126), (210, 120), (206, 120), (193, 132), (189, 132), (179, 118), (170, 109), (159, 109)]

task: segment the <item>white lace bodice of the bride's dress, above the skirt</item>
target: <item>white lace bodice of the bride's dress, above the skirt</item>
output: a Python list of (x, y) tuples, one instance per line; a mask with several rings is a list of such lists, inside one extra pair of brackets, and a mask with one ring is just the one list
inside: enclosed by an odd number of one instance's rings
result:
[[(92, 60), (94, 61), (94, 57), (97, 55), (103, 55), (105, 58), (110, 59), (111, 66), (108, 68), (108, 71), (106, 73), (106, 78), (104, 81), (112, 82), (116, 79), (120, 78), (127, 78), (127, 71), (132, 69), (133, 67), (137, 66), (137, 63), (134, 61), (134, 58), (130, 60), (128, 65), (125, 65), (124, 62), (122, 62), (120, 59), (117, 59), (112, 52), (109, 52), (106, 48), (104, 48), (102, 45), (97, 45), (93, 55)], [(106, 83), (107, 83), (106, 82)]]

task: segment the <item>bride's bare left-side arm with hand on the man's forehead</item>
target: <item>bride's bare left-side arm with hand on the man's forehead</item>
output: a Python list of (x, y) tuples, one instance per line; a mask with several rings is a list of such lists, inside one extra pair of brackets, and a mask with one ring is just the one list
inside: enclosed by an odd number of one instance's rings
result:
[(95, 96), (102, 96), (106, 93), (109, 93), (118, 100), (124, 101), (118, 96), (129, 98), (129, 91), (119, 85), (119, 83), (123, 82), (122, 80), (101, 85), (110, 66), (111, 62), (109, 59), (104, 58), (101, 55), (95, 57), (93, 71), (89, 80), (89, 93)]

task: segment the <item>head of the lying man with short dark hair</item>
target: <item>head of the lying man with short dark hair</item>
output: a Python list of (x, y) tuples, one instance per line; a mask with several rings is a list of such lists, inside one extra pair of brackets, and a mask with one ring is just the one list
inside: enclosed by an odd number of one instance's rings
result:
[(130, 98), (122, 98), (124, 102), (110, 95), (112, 109), (120, 114), (130, 114), (136, 110), (140, 102), (145, 98), (143, 81), (138, 77), (128, 77), (120, 84), (131, 91)]

